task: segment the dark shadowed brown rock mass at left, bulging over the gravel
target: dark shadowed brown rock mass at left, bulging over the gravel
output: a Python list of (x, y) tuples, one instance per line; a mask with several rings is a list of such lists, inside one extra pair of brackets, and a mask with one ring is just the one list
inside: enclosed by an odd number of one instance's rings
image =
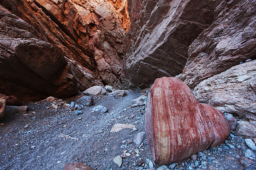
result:
[(0, 87), (22, 101), (68, 97), (99, 85), (33, 26), (0, 6)]

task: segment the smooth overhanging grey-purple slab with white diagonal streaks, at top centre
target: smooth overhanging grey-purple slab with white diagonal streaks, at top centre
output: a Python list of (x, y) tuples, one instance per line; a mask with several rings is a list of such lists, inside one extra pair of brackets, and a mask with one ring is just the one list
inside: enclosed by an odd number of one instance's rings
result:
[(210, 26), (219, 3), (144, 0), (125, 55), (129, 85), (146, 88), (156, 78), (181, 73), (188, 46)]

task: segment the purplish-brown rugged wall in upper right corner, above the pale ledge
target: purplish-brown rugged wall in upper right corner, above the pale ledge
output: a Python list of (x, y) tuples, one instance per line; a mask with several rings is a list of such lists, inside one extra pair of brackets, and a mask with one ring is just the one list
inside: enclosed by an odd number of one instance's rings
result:
[(180, 79), (190, 88), (232, 66), (256, 58), (255, 1), (223, 1), (212, 25), (189, 46)]

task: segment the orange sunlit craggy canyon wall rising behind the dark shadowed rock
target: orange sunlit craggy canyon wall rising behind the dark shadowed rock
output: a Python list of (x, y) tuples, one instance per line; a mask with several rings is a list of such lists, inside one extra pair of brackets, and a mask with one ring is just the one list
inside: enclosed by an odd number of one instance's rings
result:
[(83, 67), (78, 72), (89, 72), (92, 81), (123, 88), (123, 39), (130, 24), (126, 0), (3, 0), (0, 4), (34, 26), (37, 39)]

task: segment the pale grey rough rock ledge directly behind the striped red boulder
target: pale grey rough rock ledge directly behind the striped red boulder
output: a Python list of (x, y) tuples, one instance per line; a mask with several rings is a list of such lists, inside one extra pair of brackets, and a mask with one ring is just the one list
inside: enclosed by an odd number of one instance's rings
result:
[(196, 85), (199, 102), (256, 121), (256, 60), (236, 65)]

